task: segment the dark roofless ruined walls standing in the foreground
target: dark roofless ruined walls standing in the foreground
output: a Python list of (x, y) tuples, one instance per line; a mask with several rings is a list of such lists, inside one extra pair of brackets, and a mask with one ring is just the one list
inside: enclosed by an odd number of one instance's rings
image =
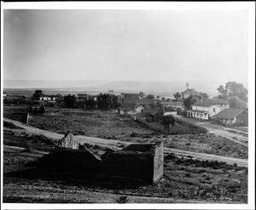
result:
[(141, 179), (149, 184), (157, 183), (163, 176), (163, 143), (129, 145), (104, 155), (102, 158), (95, 156), (87, 149), (55, 150), (39, 159), (39, 167), (55, 173)]

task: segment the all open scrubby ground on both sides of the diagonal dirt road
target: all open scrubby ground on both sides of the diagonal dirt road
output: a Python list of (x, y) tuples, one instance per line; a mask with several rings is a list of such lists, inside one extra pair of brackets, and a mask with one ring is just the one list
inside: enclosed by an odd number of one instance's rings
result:
[[(26, 107), (4, 107), (4, 116), (22, 121), (26, 114), (24, 109)], [(51, 109), (45, 115), (33, 116), (31, 124), (59, 133), (71, 131), (80, 136), (92, 136), (92, 139), (102, 137), (106, 139), (106, 145), (108, 141), (111, 145), (114, 140), (123, 141), (124, 145), (126, 142), (163, 141), (166, 148), (247, 158), (247, 148), (215, 134), (155, 133), (114, 111)], [(93, 183), (79, 177), (74, 179), (74, 175), (71, 179), (60, 179), (38, 173), (33, 163), (44, 156), (44, 152), (55, 148), (53, 141), (43, 135), (34, 135), (29, 130), (4, 122), (3, 140), (3, 202), (247, 203), (247, 167), (236, 164), (203, 161), (165, 152), (164, 178), (159, 184)], [(90, 146), (94, 152), (102, 150), (101, 146)]]

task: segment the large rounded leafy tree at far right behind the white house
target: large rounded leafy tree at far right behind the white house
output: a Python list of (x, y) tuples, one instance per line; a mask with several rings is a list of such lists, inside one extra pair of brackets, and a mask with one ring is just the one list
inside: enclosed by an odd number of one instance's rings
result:
[(229, 99), (232, 96), (237, 96), (243, 101), (247, 101), (248, 90), (241, 83), (227, 82), (225, 87), (220, 85), (218, 88), (218, 99)]

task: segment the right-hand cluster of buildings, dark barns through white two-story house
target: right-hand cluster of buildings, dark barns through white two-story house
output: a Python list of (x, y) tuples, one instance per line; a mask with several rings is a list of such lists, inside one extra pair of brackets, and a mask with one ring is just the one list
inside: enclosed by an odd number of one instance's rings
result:
[[(190, 95), (199, 94), (195, 89), (189, 88), (181, 93), (182, 99)], [(147, 121), (158, 121), (165, 111), (183, 112), (183, 116), (198, 120), (211, 120), (236, 126), (248, 126), (248, 111), (230, 108), (230, 103), (224, 99), (205, 99), (195, 102), (189, 109), (185, 109), (183, 101), (158, 101), (140, 97), (139, 94), (121, 94), (120, 113), (130, 113)]]

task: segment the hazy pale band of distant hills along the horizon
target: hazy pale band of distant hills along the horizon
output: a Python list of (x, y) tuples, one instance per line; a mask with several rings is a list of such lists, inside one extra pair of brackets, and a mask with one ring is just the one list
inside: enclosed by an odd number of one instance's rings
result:
[[(172, 96), (176, 92), (183, 92), (186, 87), (183, 82), (155, 82), (155, 81), (90, 81), (90, 80), (49, 80), (49, 81), (30, 81), (30, 80), (4, 80), (3, 88), (42, 88), (66, 91), (93, 91), (114, 93), (139, 93), (154, 94), (160, 96)], [(224, 83), (216, 81), (191, 81), (189, 88), (194, 88), (198, 92), (204, 92), (210, 97), (218, 95), (217, 88)], [(247, 84), (244, 83), (247, 88)]]

